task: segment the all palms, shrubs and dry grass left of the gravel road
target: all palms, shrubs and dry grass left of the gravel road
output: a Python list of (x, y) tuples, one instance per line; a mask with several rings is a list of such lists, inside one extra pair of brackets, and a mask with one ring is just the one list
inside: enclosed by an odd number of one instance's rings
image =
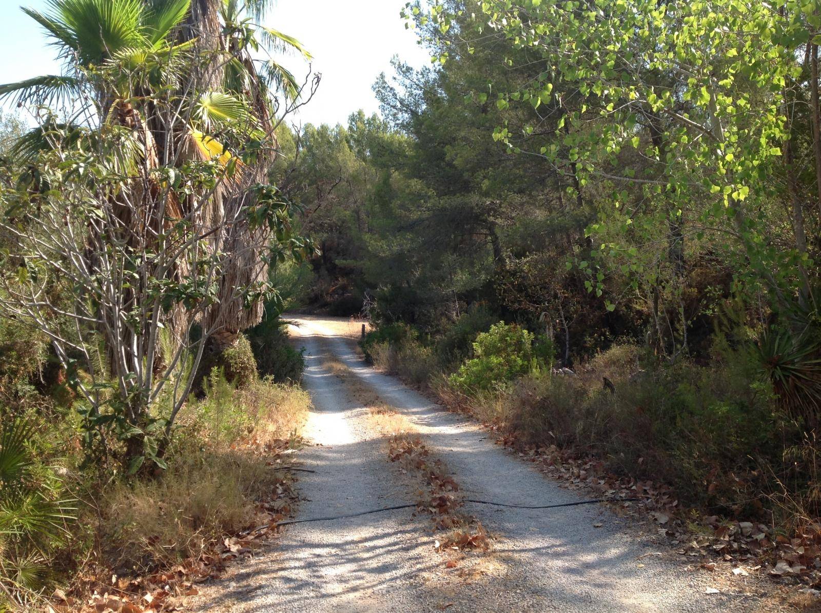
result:
[(291, 514), (277, 133), (319, 76), (271, 4), (23, 9), (63, 71), (0, 85), (0, 611), (160, 611)]

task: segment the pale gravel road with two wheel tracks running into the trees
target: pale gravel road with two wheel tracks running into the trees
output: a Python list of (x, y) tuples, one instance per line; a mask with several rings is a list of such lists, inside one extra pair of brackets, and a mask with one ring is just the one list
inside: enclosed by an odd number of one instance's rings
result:
[[(589, 498), (494, 445), (475, 423), (366, 366), (346, 320), (300, 316), (296, 323), (291, 332), (305, 347), (305, 386), (314, 400), (305, 427), (313, 445), (299, 458), (316, 471), (300, 473), (300, 519), (415, 501), (388, 463), (383, 437), (369, 427), (367, 410), (351, 400), (324, 351), (415, 424), (466, 497), (519, 505)], [(687, 560), (601, 505), (525, 510), (466, 503), (465, 510), (488, 528), (493, 547), (455, 569), (446, 569), (434, 550), (429, 519), (412, 509), (294, 524), (269, 551), (206, 588), (195, 610), (773, 610), (754, 583), (687, 570)]]

